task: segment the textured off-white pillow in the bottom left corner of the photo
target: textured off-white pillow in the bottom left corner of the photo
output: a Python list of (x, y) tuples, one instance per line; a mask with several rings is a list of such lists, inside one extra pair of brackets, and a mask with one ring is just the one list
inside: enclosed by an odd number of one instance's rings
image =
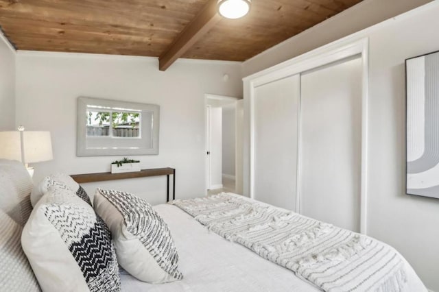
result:
[(21, 249), (21, 227), (0, 210), (0, 291), (40, 291)]

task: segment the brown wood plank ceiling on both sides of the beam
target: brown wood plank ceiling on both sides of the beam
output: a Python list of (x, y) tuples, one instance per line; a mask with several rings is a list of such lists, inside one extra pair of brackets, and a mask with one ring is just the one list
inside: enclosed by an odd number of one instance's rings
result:
[[(0, 27), (20, 50), (164, 56), (216, 0), (0, 0)], [(217, 18), (178, 57), (244, 61), (361, 0), (252, 0)]]

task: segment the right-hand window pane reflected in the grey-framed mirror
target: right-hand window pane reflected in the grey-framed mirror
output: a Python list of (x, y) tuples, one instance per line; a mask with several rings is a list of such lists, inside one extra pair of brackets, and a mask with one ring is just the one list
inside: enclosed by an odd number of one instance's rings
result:
[(112, 112), (112, 136), (115, 137), (140, 137), (139, 112)]

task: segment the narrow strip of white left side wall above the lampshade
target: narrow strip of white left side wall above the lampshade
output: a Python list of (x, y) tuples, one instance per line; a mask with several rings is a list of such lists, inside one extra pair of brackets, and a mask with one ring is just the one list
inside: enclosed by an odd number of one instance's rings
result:
[(15, 55), (0, 32), (0, 131), (15, 127)]

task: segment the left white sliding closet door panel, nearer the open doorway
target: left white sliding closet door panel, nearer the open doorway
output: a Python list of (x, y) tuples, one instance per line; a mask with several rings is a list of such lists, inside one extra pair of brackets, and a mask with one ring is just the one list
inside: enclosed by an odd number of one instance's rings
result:
[(300, 76), (254, 92), (254, 199), (296, 210)]

